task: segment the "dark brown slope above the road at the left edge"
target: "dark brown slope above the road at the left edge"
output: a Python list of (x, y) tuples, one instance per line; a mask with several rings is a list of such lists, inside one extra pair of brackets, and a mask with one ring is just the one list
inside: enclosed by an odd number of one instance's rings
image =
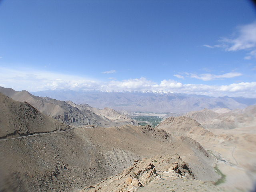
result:
[(0, 114), (0, 138), (15, 138), (69, 128), (42, 114), (27, 102), (14, 101), (2, 93), (0, 93)]

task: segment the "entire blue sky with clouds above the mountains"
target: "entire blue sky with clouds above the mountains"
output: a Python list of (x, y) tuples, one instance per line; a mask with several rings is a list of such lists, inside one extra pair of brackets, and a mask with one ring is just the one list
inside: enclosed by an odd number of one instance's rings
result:
[(256, 98), (256, 7), (0, 0), (0, 86)]

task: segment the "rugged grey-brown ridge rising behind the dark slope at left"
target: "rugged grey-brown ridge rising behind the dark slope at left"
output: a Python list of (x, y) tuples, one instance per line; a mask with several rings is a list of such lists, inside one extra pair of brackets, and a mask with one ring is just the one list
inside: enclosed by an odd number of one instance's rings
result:
[(41, 98), (30, 94), (27, 91), (15, 91), (11, 88), (0, 87), (0, 92), (6, 96), (20, 101), (28, 102), (40, 112), (50, 117), (64, 122), (69, 125), (100, 125), (102, 122), (109, 122), (106, 118), (102, 118), (89, 110), (81, 111), (76, 107), (70, 106), (65, 101), (55, 100), (51, 98)]

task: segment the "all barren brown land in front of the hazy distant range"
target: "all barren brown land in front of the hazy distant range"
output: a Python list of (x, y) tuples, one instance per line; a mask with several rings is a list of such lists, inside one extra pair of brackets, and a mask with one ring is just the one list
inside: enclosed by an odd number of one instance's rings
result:
[(10, 88), (0, 87), (0, 103), (3, 192), (238, 192), (256, 180), (255, 105), (192, 111), (153, 128)]

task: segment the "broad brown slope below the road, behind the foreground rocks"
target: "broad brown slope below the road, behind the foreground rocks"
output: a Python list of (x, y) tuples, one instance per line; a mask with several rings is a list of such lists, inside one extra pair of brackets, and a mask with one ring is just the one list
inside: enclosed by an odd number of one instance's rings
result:
[(177, 153), (196, 179), (216, 181), (213, 159), (190, 138), (150, 126), (77, 127), (0, 140), (0, 191), (76, 191), (144, 157)]

